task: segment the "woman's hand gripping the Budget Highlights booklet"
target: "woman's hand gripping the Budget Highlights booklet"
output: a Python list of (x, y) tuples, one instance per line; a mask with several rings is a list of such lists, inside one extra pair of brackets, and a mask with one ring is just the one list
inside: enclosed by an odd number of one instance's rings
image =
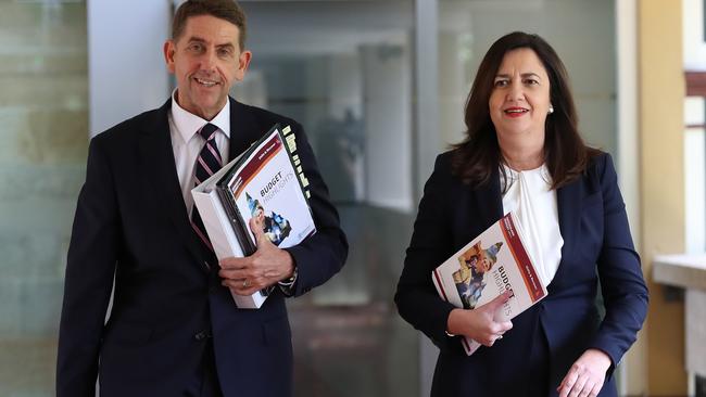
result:
[(513, 296), (505, 291), (493, 300), (472, 310), (453, 309), (446, 320), (446, 330), (454, 335), (465, 335), (483, 346), (492, 346), (495, 341), (513, 328), (510, 321), (495, 321), (495, 313)]

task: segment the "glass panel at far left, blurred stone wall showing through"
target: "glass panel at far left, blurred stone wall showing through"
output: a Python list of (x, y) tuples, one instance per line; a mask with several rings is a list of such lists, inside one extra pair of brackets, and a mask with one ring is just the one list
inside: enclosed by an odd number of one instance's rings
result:
[(0, 2), (0, 395), (50, 396), (88, 145), (86, 4)]

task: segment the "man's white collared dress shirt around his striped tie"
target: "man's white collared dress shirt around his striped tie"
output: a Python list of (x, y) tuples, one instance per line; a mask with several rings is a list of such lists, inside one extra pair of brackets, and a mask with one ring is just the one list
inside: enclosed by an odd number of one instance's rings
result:
[(211, 120), (205, 120), (189, 113), (179, 106), (176, 101), (176, 90), (172, 93), (172, 110), (169, 112), (169, 133), (172, 136), (172, 149), (174, 150), (174, 162), (184, 203), (187, 206), (189, 218), (193, 208), (191, 189), (196, 185), (194, 169), (199, 152), (205, 144), (205, 140), (199, 136), (199, 130), (211, 123), (218, 127), (216, 130), (216, 146), (220, 153), (224, 165), (228, 163), (228, 149), (230, 145), (230, 99), (218, 114)]

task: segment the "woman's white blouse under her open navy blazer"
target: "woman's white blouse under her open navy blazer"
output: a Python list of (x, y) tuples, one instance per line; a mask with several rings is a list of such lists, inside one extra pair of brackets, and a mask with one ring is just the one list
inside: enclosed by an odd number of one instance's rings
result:
[[(526, 235), (528, 254), (534, 261), (539, 277), (549, 285), (559, 268), (564, 239), (559, 230), (556, 190), (551, 190), (552, 176), (542, 165), (539, 168), (516, 171), (503, 165), (508, 188), (503, 189), (503, 212), (515, 212)], [(505, 187), (501, 172), (501, 188)]]

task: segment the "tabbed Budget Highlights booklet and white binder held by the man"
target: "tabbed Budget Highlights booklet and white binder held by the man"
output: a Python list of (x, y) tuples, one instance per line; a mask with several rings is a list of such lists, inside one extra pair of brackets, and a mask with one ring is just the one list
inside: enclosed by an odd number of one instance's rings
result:
[[(264, 215), (263, 231), (280, 248), (316, 232), (308, 180), (291, 127), (275, 125), (245, 152), (191, 190), (218, 259), (252, 255), (257, 248), (250, 219)], [(272, 292), (231, 295), (239, 308), (260, 308)]]

